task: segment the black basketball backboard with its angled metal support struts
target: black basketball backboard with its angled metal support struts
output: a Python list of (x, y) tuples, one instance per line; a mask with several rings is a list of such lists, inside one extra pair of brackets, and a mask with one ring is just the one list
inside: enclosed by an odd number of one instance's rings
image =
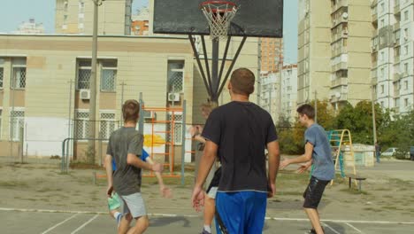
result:
[[(237, 4), (238, 10), (229, 26), (226, 48), (220, 69), (219, 39), (212, 39), (210, 71), (204, 39), (204, 35), (210, 35), (209, 23), (200, 8), (200, 4), (206, 0), (152, 1), (154, 2), (153, 32), (156, 34), (188, 35), (210, 100), (216, 103), (247, 37), (281, 38), (283, 35), (283, 0), (226, 0), (226, 2)], [(200, 53), (196, 50), (195, 35), (200, 35), (201, 37), (205, 72), (200, 60)], [(234, 54), (233, 61), (222, 81), (226, 55), (232, 36), (242, 36), (242, 42)]]

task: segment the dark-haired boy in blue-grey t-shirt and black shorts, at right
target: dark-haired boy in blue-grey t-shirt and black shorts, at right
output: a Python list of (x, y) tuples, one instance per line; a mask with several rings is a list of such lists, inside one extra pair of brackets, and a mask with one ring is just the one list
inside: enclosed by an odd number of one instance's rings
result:
[(298, 168), (299, 172), (304, 172), (313, 164), (311, 181), (303, 193), (303, 208), (308, 215), (312, 229), (309, 233), (325, 233), (320, 225), (318, 205), (326, 184), (334, 179), (335, 169), (331, 156), (331, 144), (326, 136), (325, 129), (315, 123), (315, 109), (311, 105), (301, 105), (297, 108), (299, 121), (307, 129), (304, 134), (305, 153), (294, 159), (286, 159), (280, 162), (280, 169), (288, 167), (289, 164), (305, 162)]

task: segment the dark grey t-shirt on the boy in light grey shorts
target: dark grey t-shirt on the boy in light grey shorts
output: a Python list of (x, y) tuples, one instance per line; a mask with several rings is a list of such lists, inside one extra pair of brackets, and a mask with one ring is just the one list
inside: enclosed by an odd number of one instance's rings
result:
[(112, 132), (106, 150), (116, 162), (113, 174), (113, 188), (119, 195), (130, 195), (141, 191), (141, 168), (126, 163), (128, 153), (142, 155), (143, 136), (134, 128), (122, 127)]

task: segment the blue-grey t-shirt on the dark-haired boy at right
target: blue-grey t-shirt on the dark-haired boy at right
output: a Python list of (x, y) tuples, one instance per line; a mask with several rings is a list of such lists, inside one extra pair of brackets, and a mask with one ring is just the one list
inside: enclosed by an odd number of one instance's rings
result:
[(326, 131), (317, 123), (314, 123), (305, 131), (305, 144), (313, 145), (312, 175), (319, 180), (330, 181), (334, 179), (335, 168), (331, 155), (331, 144), (329, 144)]

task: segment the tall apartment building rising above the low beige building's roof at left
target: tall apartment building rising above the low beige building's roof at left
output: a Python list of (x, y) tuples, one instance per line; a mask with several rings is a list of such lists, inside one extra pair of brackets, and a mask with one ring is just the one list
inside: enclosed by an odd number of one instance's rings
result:
[[(130, 35), (132, 0), (103, 1), (98, 7), (98, 35)], [(92, 35), (94, 1), (56, 0), (57, 34)]]

